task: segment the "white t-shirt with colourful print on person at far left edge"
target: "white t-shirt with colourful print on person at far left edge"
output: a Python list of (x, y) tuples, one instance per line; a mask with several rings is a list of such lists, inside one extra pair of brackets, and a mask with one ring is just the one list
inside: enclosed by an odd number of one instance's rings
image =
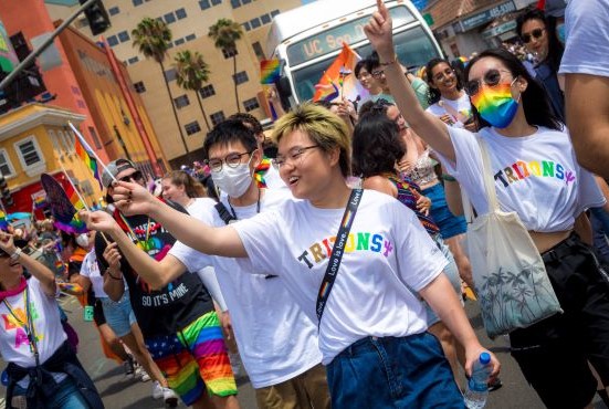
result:
[[(33, 319), (34, 334), (40, 363), (44, 364), (67, 338), (60, 319), (60, 311), (54, 296), (44, 294), (36, 277), (28, 281), (30, 314)], [(27, 323), (27, 310), (23, 291), (4, 301), (11, 306), (19, 321)], [(30, 350), (30, 342), (23, 325), (9, 312), (4, 302), (0, 303), (3, 331), (0, 331), (0, 354), (8, 363), (24, 368), (35, 366), (35, 358)]]

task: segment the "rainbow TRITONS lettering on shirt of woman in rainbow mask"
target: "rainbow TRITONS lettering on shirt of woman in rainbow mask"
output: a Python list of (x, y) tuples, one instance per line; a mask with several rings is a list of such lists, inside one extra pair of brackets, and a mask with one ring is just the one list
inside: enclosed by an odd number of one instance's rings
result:
[(565, 169), (563, 165), (554, 160), (531, 160), (527, 162), (518, 160), (494, 175), (495, 180), (501, 181), (504, 187), (533, 176), (538, 178), (556, 178), (565, 180), (565, 183), (569, 185), (575, 182), (576, 175), (575, 171)]

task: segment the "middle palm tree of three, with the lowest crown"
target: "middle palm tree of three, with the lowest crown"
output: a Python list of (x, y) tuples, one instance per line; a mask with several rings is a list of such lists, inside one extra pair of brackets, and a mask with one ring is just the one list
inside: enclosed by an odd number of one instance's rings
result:
[(197, 101), (199, 102), (199, 107), (201, 108), (201, 113), (203, 114), (203, 119), (206, 120), (207, 128), (208, 130), (211, 130), (206, 109), (203, 108), (203, 104), (201, 102), (201, 95), (199, 93), (199, 91), (203, 86), (203, 83), (207, 83), (209, 81), (210, 71), (208, 64), (198, 51), (191, 53), (189, 50), (178, 52), (174, 61), (174, 66), (176, 67), (177, 72), (176, 80), (178, 81), (178, 85), (183, 90), (195, 91), (195, 94), (197, 94)]

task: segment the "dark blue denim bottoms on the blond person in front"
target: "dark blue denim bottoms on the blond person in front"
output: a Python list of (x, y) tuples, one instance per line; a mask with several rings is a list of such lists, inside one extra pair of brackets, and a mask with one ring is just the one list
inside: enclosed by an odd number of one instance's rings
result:
[(333, 409), (465, 408), (438, 339), (366, 337), (326, 367)]

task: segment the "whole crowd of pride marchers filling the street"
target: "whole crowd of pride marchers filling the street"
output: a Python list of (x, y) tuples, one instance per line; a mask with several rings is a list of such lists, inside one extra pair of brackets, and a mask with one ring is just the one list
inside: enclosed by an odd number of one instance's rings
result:
[(586, 118), (568, 129), (581, 109), (569, 98), (589, 86), (579, 34), (529, 10), (516, 28), (526, 50), (433, 59), (418, 76), (377, 6), (375, 51), (354, 72), (368, 98), (276, 109), (273, 149), (235, 114), (207, 135), (204, 158), (158, 183), (109, 162), (107, 206), (80, 213), (90, 232), (49, 219), (0, 233), (9, 405), (103, 407), (61, 291), (78, 296), (106, 356), (171, 406), (241, 407), (242, 363), (260, 408), (463, 408), (461, 374), (489, 353), (463, 310), (464, 289), (484, 292), (484, 254), (464, 238), (498, 207), (559, 304), (508, 331), (512, 356), (548, 408), (590, 407), (597, 392), (609, 406), (609, 188), (575, 144)]

